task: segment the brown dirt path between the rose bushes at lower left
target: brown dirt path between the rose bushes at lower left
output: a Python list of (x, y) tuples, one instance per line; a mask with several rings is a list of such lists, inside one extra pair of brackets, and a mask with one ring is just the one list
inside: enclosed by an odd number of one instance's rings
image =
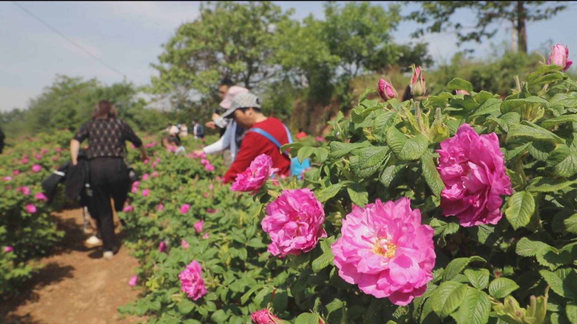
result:
[[(0, 304), (3, 324), (128, 324), (116, 308), (131, 302), (138, 290), (128, 285), (138, 265), (121, 248), (113, 259), (102, 258), (102, 247), (88, 247), (82, 232), (81, 209), (57, 213), (66, 231), (62, 248), (40, 262), (46, 265), (19, 296)], [(117, 225), (117, 233), (119, 226)], [(118, 235), (117, 239), (122, 239)]]

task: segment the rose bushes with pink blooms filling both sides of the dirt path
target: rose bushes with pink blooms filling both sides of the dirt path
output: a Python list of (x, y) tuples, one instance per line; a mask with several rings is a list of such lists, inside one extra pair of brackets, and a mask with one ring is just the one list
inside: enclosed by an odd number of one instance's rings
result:
[[(149, 324), (577, 323), (577, 83), (553, 63), (507, 97), (461, 78), (428, 96), (413, 67), (414, 99), (401, 102), (403, 85), (381, 80), (323, 138), (283, 146), (312, 162), (298, 179), (261, 155), (223, 184), (220, 156), (175, 156), (142, 134), (150, 159), (128, 150), (141, 179), (118, 213), (140, 265), (123, 289), (140, 295), (118, 312)], [(51, 212), (70, 202), (59, 191), (48, 204), (40, 183), (69, 161), (72, 137), (9, 141), (0, 155), (2, 294), (64, 235)]]

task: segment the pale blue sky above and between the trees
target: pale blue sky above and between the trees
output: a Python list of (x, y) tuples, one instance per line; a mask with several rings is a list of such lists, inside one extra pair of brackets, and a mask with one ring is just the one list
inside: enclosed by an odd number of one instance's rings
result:
[[(125, 74), (136, 85), (147, 84), (155, 70), (149, 64), (156, 62), (175, 29), (198, 16), (198, 2), (18, 2), (48, 22), (93, 55)], [(323, 17), (323, 2), (276, 2), (283, 9), (293, 7), (294, 18), (310, 13)], [(387, 6), (386, 2), (374, 2)], [(553, 20), (534, 22), (527, 26), (529, 50), (549, 44), (562, 43), (571, 53), (577, 52), (577, 37), (568, 28), (577, 16), (577, 5)], [(410, 5), (404, 12), (410, 12)], [(461, 10), (456, 15), (463, 25), (474, 21), (473, 13)], [(402, 22), (394, 33), (398, 43), (414, 41), (409, 34), (417, 25)], [(426, 35), (429, 50), (436, 61), (447, 61), (459, 50), (451, 33)], [(511, 40), (510, 26), (500, 26), (493, 43)], [(490, 44), (471, 44), (475, 55), (490, 55)], [(543, 53), (545, 54), (545, 53)], [(572, 54), (575, 61), (575, 54)], [(0, 111), (25, 108), (29, 99), (38, 96), (50, 85), (56, 74), (96, 77), (111, 84), (123, 77), (108, 69), (85, 52), (66, 42), (39, 21), (23, 12), (12, 2), (0, 2)]]

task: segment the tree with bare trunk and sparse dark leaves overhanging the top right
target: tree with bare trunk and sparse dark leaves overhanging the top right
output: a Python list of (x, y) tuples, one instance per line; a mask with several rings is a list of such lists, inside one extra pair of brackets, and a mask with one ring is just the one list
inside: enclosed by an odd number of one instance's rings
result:
[[(456, 32), (459, 43), (493, 37), (499, 28), (492, 25), (503, 20), (510, 21), (518, 35), (520, 52), (527, 52), (526, 22), (546, 20), (567, 8), (563, 2), (567, 1), (419, 1), (421, 10), (409, 14), (407, 18), (427, 24), (426, 28), (418, 28), (413, 36), (422, 36), (426, 32)], [(408, 1), (405, 1), (408, 3)], [(477, 21), (473, 29), (468, 29), (449, 18), (454, 16), (458, 9), (470, 9), (475, 12)]]

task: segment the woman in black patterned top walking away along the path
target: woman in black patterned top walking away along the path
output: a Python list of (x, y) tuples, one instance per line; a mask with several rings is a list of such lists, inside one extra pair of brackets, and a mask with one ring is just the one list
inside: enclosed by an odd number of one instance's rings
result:
[(117, 119), (116, 108), (108, 101), (96, 104), (92, 119), (80, 127), (70, 141), (73, 165), (78, 163), (80, 143), (87, 138), (89, 179), (93, 190), (89, 212), (96, 218), (102, 235), (104, 258), (110, 259), (118, 249), (110, 198), (114, 199), (114, 208), (122, 210), (130, 187), (128, 167), (123, 161), (126, 155), (125, 142), (130, 141), (139, 148), (143, 160), (147, 160), (148, 155), (140, 138), (126, 122)]

